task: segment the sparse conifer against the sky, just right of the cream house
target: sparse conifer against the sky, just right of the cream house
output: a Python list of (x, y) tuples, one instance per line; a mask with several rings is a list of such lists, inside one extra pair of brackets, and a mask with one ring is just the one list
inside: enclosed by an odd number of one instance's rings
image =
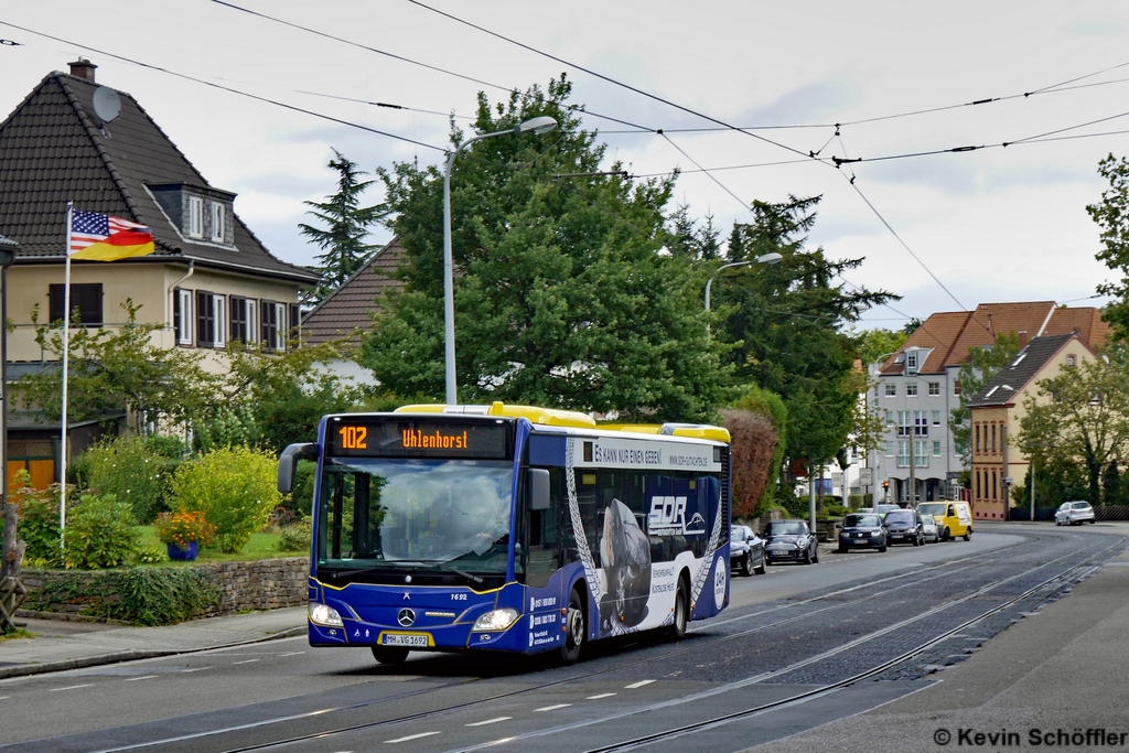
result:
[(383, 205), (361, 207), (360, 194), (373, 181), (361, 181), (364, 173), (357, 164), (333, 150), (330, 168), (338, 172), (338, 192), (325, 201), (307, 201), (313, 207), (307, 214), (314, 216), (323, 226), (314, 227), (300, 222), (298, 230), (322, 249), (316, 259), (322, 263), (317, 271), (322, 281), (310, 294), (307, 303), (316, 305), (336, 290), (353, 272), (359, 270), (377, 246), (365, 243), (369, 228), (386, 213)]

